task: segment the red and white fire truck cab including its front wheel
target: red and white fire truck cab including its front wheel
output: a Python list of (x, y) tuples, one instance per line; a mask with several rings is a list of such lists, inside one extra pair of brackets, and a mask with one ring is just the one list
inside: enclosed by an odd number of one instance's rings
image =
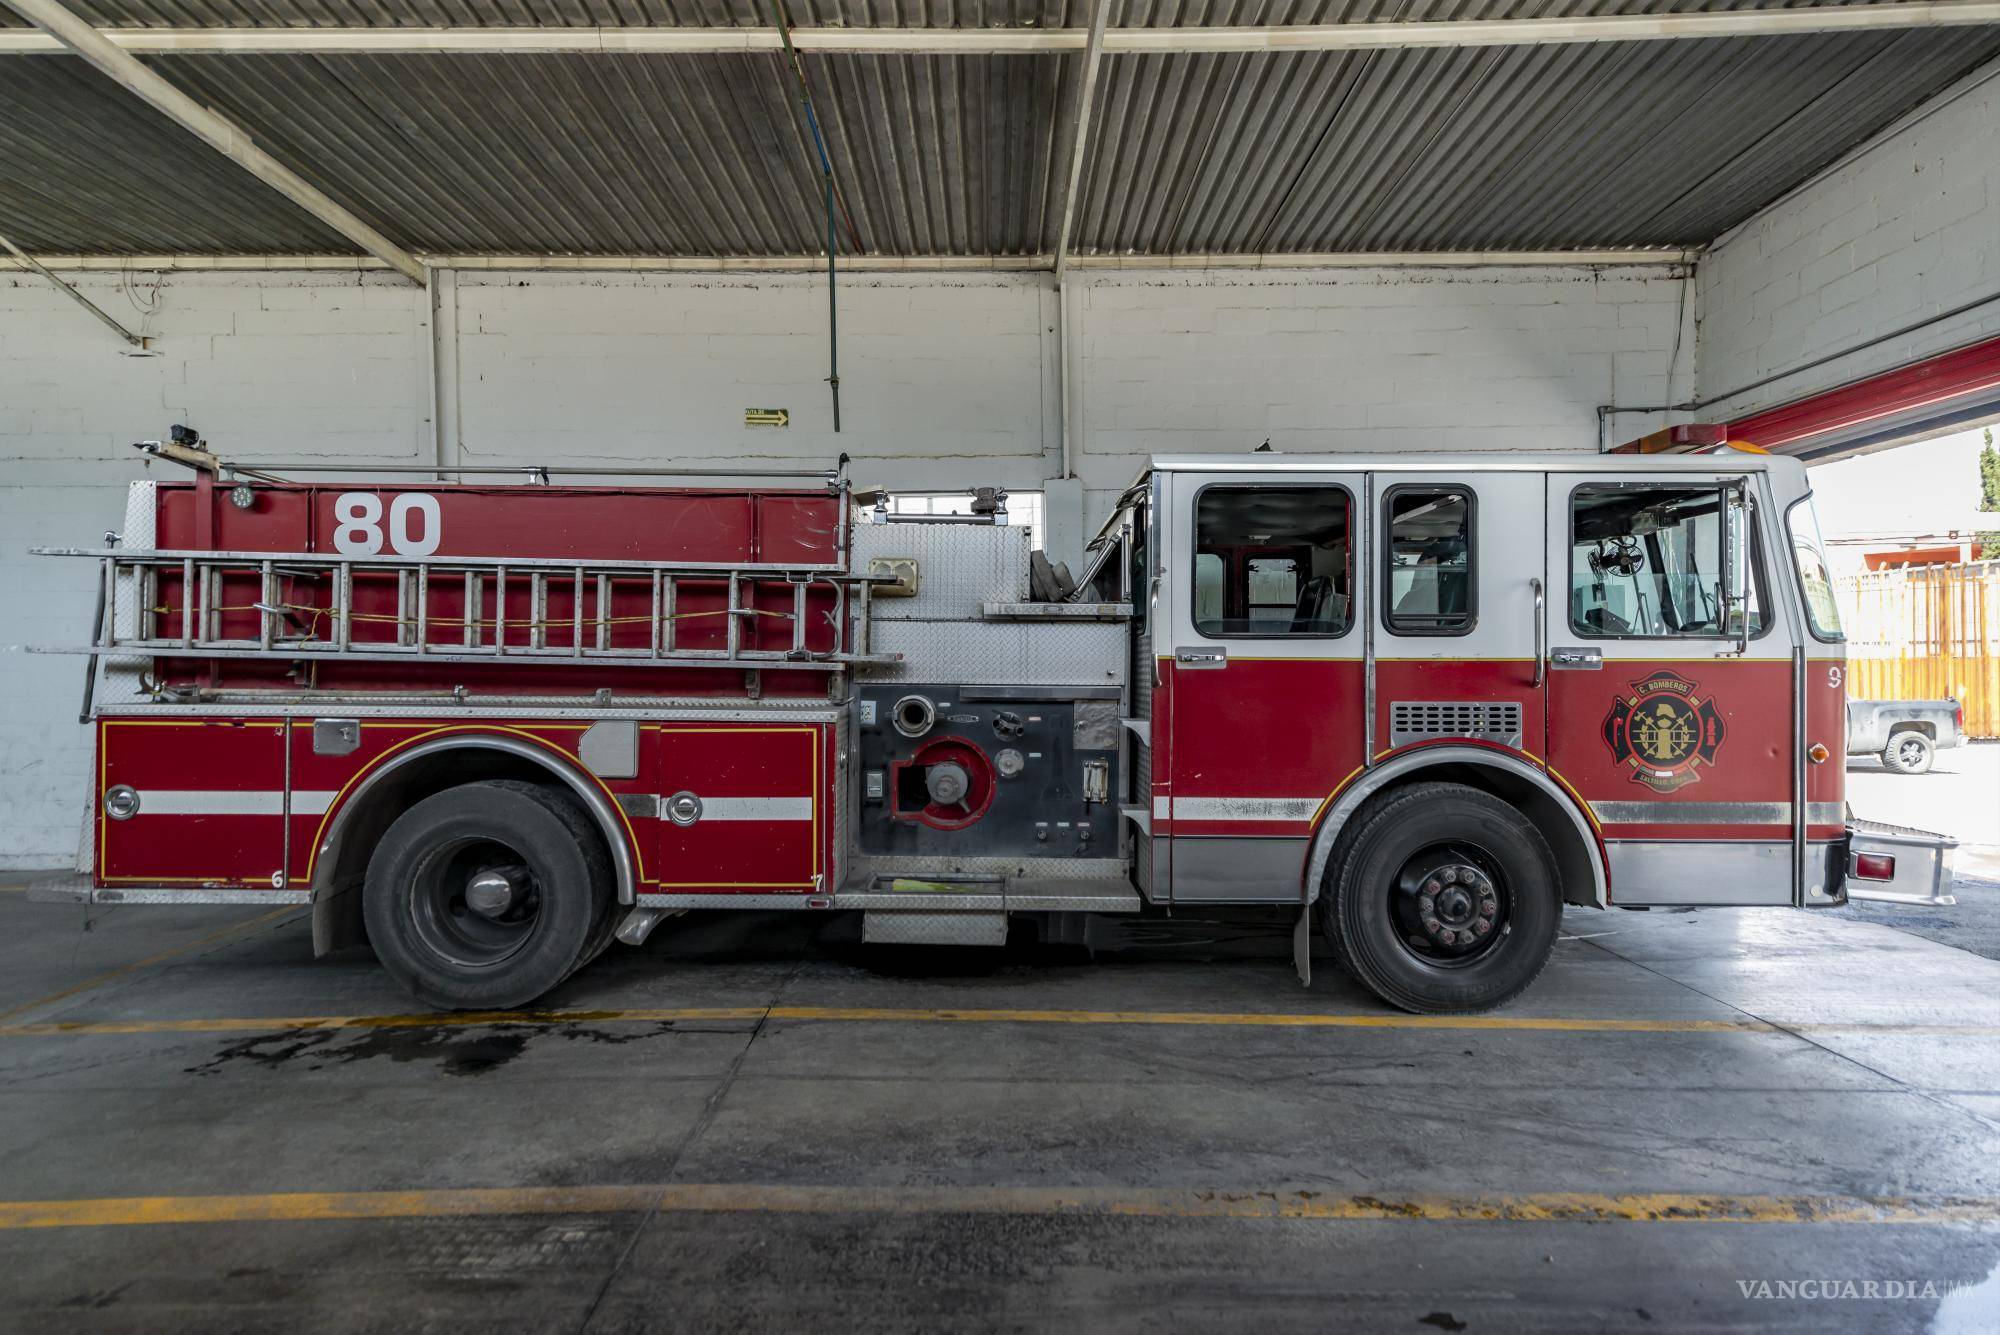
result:
[(1566, 903), (1860, 893), (1794, 460), (1162, 456), (1096, 552), (1154, 903), (1298, 901), (1456, 1009), (1524, 987)]

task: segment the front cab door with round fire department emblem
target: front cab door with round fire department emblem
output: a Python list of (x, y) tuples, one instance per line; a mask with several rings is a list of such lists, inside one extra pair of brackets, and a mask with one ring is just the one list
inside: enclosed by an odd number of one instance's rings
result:
[(1768, 522), (1736, 500), (1754, 484), (1548, 478), (1548, 763), (1602, 831), (1612, 903), (1792, 903), (1792, 636)]

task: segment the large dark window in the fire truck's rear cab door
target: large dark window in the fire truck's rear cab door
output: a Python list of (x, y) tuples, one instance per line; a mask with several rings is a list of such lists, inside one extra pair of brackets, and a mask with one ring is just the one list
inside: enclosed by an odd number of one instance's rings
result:
[(1194, 498), (1194, 630), (1344, 636), (1354, 500), (1328, 486), (1210, 486)]

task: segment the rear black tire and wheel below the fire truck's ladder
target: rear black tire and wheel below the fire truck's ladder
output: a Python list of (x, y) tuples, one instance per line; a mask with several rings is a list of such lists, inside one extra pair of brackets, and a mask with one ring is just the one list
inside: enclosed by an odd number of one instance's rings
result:
[[(486, 893), (504, 903), (476, 911), (468, 891), (482, 873), (500, 877)], [(388, 827), (368, 859), (362, 915), (382, 967), (426, 1005), (526, 1005), (610, 939), (610, 857), (568, 793), (464, 783)]]

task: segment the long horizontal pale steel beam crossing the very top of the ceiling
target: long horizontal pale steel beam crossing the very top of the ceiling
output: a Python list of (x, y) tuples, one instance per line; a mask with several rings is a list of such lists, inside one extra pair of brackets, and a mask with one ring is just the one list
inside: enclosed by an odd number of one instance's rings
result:
[[(50, 0), (8, 0), (24, 14)], [(36, 20), (40, 22), (40, 20)], [(72, 22), (84, 26), (72, 16)], [(1194, 52), (1332, 52), (1424, 46), (1564, 46), (1694, 38), (1804, 36), (2000, 24), (2000, 0), (1892, 0), (1816, 8), (1584, 18), (1470, 18), (1378, 24), (1266, 24), (1254, 28), (1108, 28), (1106, 56)], [(172, 54), (726, 54), (782, 50), (776, 28), (94, 28), (108, 46)], [(1032, 56), (1090, 48), (1088, 28), (794, 28), (802, 52), (846, 56)], [(66, 38), (0, 30), (0, 54), (74, 50)]]

